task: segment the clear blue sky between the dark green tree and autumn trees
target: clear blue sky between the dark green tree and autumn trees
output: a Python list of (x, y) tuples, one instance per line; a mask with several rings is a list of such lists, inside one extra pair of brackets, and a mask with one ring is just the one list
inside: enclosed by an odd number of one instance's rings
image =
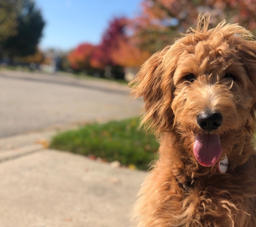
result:
[(40, 48), (98, 44), (113, 17), (139, 15), (142, 0), (35, 0), (46, 22)]

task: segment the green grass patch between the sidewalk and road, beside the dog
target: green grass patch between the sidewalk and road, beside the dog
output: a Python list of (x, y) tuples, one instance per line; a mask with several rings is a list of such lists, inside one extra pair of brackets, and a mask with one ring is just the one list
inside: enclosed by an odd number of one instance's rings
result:
[(139, 124), (139, 118), (89, 124), (57, 134), (50, 148), (94, 155), (109, 162), (117, 160), (122, 165), (147, 170), (150, 162), (157, 158), (159, 144), (154, 135), (144, 132)]

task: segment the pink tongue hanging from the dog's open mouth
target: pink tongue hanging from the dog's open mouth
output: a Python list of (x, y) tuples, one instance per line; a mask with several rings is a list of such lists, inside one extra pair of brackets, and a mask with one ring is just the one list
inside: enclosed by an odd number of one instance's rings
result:
[(216, 134), (198, 133), (193, 152), (196, 160), (202, 166), (213, 166), (222, 154), (220, 138)]

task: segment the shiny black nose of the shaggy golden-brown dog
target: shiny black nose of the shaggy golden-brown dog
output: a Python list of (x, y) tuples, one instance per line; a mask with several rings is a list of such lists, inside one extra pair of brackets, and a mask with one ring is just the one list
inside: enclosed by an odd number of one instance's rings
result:
[(199, 113), (197, 116), (197, 124), (201, 129), (207, 131), (218, 129), (222, 124), (222, 115), (212, 112)]

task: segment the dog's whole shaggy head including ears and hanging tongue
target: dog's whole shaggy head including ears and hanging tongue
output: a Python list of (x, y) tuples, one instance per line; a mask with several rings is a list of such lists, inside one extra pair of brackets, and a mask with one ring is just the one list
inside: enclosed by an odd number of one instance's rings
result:
[(151, 56), (132, 81), (146, 103), (143, 123), (179, 133), (202, 166), (240, 154), (255, 132), (256, 42), (238, 25), (208, 23)]

